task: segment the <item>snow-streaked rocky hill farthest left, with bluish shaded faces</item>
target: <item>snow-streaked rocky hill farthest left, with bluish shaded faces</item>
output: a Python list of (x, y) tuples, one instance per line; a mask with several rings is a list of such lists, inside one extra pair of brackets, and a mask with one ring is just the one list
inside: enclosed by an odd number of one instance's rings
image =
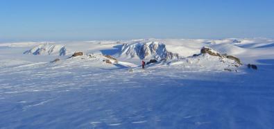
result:
[(62, 45), (54, 44), (40, 44), (33, 47), (28, 51), (25, 51), (24, 54), (33, 54), (33, 55), (66, 55), (67, 49)]

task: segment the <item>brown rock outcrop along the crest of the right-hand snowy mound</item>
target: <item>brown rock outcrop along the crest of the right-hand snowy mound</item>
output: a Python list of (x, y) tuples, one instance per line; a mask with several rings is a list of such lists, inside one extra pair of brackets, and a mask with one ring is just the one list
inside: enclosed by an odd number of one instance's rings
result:
[[(201, 53), (201, 54), (207, 53), (207, 54), (212, 55), (212, 56), (219, 56), (220, 58), (228, 58), (228, 59), (230, 59), (230, 60), (234, 60), (235, 62), (237, 62), (237, 64), (242, 65), (242, 64), (241, 64), (241, 60), (240, 60), (239, 58), (236, 58), (236, 57), (234, 57), (234, 56), (232, 56), (232, 55), (227, 55), (226, 53), (223, 54), (223, 55), (221, 55), (221, 54), (218, 53), (217, 51), (214, 51), (214, 50), (209, 49), (209, 48), (207, 48), (207, 47), (203, 47), (203, 48), (200, 50), (200, 53)], [(239, 66), (237, 65), (237, 67), (239, 67)]]

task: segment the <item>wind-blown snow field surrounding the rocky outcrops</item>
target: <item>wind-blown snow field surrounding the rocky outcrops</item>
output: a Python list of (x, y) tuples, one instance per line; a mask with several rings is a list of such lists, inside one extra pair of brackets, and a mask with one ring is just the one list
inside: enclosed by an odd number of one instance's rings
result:
[[(138, 42), (161, 42), (180, 57), (208, 46), (259, 69), (243, 65), (239, 72), (223, 71), (221, 64), (210, 63), (216, 58), (205, 56), (200, 64), (196, 58), (184, 58), (143, 71), (135, 66), (139, 58), (121, 56), (122, 44)], [(23, 54), (41, 42), (0, 44), (0, 128), (274, 128), (271, 42), (260, 38), (52, 43), (88, 54), (69, 59), (70, 55)], [(102, 53), (123, 62), (105, 63)], [(61, 60), (51, 63), (55, 58)]]

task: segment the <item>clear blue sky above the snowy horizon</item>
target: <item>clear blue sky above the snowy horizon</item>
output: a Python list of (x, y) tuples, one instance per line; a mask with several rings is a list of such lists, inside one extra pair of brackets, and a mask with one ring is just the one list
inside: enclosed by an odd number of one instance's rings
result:
[(273, 0), (0, 0), (0, 41), (274, 37)]

